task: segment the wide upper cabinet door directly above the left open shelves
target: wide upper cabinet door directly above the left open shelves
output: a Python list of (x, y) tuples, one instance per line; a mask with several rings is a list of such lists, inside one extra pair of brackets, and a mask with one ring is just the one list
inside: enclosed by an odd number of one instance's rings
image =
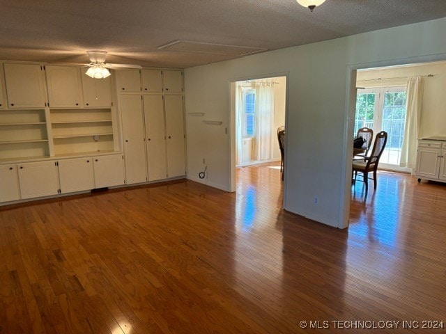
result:
[(31, 64), (3, 64), (9, 108), (45, 108), (43, 67)]

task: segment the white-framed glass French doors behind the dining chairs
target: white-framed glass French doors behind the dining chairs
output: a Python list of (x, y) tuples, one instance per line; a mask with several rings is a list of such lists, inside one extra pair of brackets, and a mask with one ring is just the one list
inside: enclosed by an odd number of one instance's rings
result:
[(406, 87), (382, 87), (357, 90), (355, 134), (361, 127), (387, 132), (387, 145), (380, 166), (401, 170), (399, 161), (406, 125)]

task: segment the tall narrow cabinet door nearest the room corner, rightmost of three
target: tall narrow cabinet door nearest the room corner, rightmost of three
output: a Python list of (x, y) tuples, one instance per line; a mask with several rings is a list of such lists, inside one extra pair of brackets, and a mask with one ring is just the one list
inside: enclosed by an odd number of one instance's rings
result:
[(165, 95), (167, 134), (167, 175), (185, 175), (183, 96)]

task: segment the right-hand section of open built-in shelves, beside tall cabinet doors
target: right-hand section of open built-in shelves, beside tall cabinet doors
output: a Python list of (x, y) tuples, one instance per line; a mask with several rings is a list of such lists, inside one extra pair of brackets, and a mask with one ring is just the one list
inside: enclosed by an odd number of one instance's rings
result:
[(52, 109), (56, 157), (114, 150), (112, 109)]

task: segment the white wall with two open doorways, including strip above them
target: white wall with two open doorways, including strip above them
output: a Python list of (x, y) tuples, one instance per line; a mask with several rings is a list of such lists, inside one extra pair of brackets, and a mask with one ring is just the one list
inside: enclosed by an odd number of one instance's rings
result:
[(349, 119), (354, 117), (346, 93), (348, 66), (414, 63), (422, 56), (446, 59), (445, 31), (446, 19), (438, 19), (185, 70), (186, 112), (206, 112), (206, 119), (223, 121), (211, 127), (187, 118), (188, 177), (199, 180), (206, 157), (208, 184), (231, 189), (231, 140), (225, 133), (231, 129), (229, 82), (288, 73), (284, 208), (345, 227), (352, 145), (346, 134), (353, 132), (353, 122), (344, 128), (346, 110)]

